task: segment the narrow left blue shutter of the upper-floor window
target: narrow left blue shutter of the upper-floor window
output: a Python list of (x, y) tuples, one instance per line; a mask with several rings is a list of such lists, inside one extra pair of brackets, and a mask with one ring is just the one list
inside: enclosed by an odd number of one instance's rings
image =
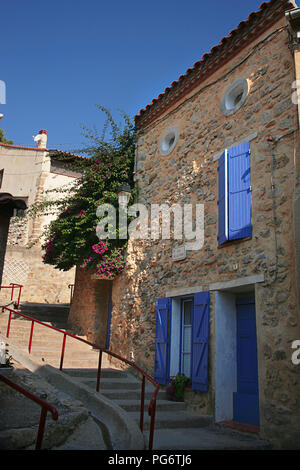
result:
[(227, 229), (227, 151), (223, 152), (219, 158), (218, 165), (219, 172), (219, 233), (218, 233), (218, 243), (222, 243), (228, 240), (228, 229)]

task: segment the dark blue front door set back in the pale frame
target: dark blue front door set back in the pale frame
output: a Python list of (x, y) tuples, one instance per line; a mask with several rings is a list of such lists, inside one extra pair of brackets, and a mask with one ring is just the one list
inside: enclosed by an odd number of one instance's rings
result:
[(233, 394), (235, 421), (259, 425), (259, 396), (255, 299), (237, 301), (237, 391)]

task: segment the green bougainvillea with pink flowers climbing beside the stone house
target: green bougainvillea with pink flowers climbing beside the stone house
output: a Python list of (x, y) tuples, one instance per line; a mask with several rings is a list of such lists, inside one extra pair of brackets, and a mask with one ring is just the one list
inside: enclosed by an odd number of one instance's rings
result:
[[(59, 211), (46, 232), (43, 245), (45, 263), (64, 271), (75, 265), (92, 269), (98, 278), (113, 278), (124, 267), (124, 250), (127, 240), (99, 240), (96, 226), (97, 207), (109, 203), (118, 208), (117, 192), (122, 184), (133, 188), (135, 130), (123, 115), (125, 123), (119, 128), (108, 110), (104, 131), (110, 128), (110, 138), (105, 140), (87, 129), (85, 136), (90, 145), (84, 151), (90, 158), (84, 161), (82, 178), (76, 180), (63, 197), (54, 202), (45, 200), (31, 208), (31, 215)], [(57, 190), (61, 192), (61, 188)], [(134, 192), (132, 196), (134, 197)], [(51, 212), (52, 211), (52, 212)]]

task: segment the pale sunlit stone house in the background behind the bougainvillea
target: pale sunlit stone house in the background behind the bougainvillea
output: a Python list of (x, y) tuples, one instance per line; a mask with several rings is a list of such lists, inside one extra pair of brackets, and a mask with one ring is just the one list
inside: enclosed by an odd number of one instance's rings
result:
[[(80, 173), (71, 168), (74, 159), (83, 158), (56, 149), (47, 149), (47, 132), (40, 131), (36, 147), (0, 143), (1, 192), (12, 194), (29, 207), (41, 202), (47, 190), (65, 188)], [(67, 163), (62, 163), (64, 156)], [(51, 193), (47, 197), (55, 197)], [(75, 271), (59, 271), (42, 262), (40, 238), (52, 215), (30, 218), (15, 209), (10, 219), (2, 285), (24, 285), (23, 302), (68, 303)], [(3, 290), (1, 295), (7, 294)]]

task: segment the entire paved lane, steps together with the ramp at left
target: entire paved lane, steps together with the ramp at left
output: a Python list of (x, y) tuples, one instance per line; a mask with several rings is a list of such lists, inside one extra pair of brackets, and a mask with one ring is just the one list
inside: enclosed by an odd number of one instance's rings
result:
[[(61, 308), (59, 312), (52, 310), (48, 311), (48, 306), (39, 306), (35, 315), (40, 320), (49, 321), (49, 325), (60, 322), (59, 326), (62, 327), (67, 314), (62, 315), (64, 311)], [(7, 314), (0, 315), (0, 333), (2, 330), (5, 334), (7, 321)], [(95, 350), (68, 337), (63, 372), (60, 372), (57, 368), (62, 335), (35, 324), (32, 352), (28, 355), (30, 331), (30, 321), (13, 320), (7, 341), (15, 354), (14, 370), (5, 373), (57, 408), (58, 421), (53, 421), (50, 413), (47, 414), (43, 448), (142, 449), (144, 440), (147, 448), (147, 409), (144, 414), (144, 436), (138, 425), (140, 382), (132, 376), (120, 377), (120, 371), (112, 370), (104, 354), (102, 366), (106, 370), (101, 374), (100, 393), (95, 392), (99, 357)], [(51, 370), (49, 364), (52, 365)], [(146, 386), (146, 399), (152, 393), (153, 390), (148, 390)], [(270, 448), (257, 436), (214, 426), (212, 417), (191, 414), (183, 409), (184, 405), (166, 401), (163, 391), (159, 392), (154, 450)], [(0, 382), (0, 448), (34, 448), (40, 412), (38, 405)]]

